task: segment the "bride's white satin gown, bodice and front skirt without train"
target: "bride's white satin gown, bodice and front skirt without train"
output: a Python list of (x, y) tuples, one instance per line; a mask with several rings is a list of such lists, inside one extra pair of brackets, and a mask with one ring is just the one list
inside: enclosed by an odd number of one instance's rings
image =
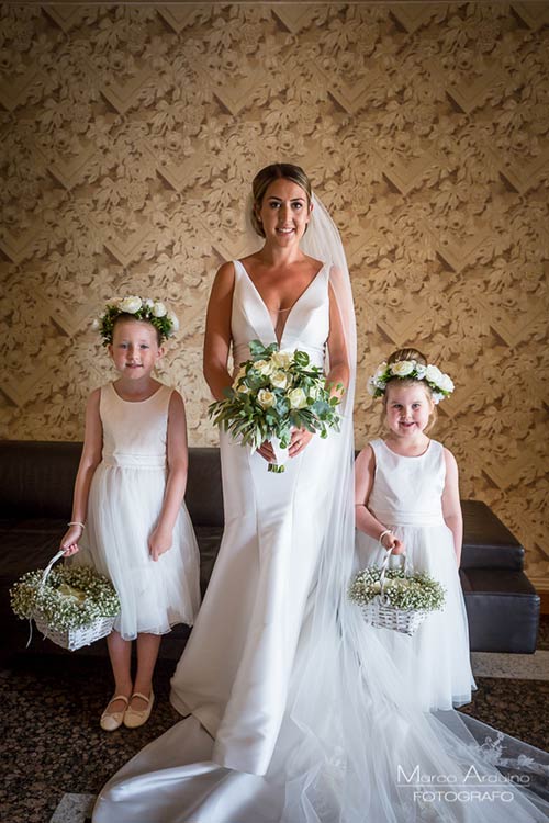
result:
[[(323, 266), (289, 312), (280, 341), (246, 269), (235, 261), (232, 337), (235, 365), (258, 339), (306, 351), (324, 365), (329, 334), (329, 267)], [(265, 774), (287, 704), (303, 611), (329, 514), (337, 435), (314, 437), (288, 460), (283, 474), (267, 471), (222, 432), (225, 531), (219, 559), (183, 657), (171, 701), (215, 737), (213, 759)]]

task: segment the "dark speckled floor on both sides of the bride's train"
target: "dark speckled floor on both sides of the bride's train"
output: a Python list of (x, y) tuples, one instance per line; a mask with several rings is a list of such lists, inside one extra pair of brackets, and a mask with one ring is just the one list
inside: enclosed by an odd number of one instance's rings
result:
[[(542, 621), (538, 647), (549, 651), (549, 618)], [(512, 667), (516, 665), (513, 657), (509, 655)], [(500, 674), (505, 674), (501, 668), (504, 663), (497, 664)], [(105, 658), (41, 654), (21, 656), (4, 666), (0, 672), (1, 822), (83, 823), (90, 796), (148, 741), (180, 719), (168, 702), (172, 670), (172, 662), (157, 667), (158, 699), (145, 726), (107, 734), (98, 722), (111, 696)], [(547, 680), (481, 676), (478, 685), (467, 713), (549, 749)]]

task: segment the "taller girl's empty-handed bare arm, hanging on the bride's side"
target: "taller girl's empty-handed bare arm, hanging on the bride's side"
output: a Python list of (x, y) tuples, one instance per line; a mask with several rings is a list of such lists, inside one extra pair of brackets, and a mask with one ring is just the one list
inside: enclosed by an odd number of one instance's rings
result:
[(163, 510), (150, 534), (148, 548), (153, 560), (171, 548), (173, 527), (187, 487), (188, 448), (184, 404), (179, 392), (172, 392), (168, 408), (167, 436), (168, 478), (164, 495)]

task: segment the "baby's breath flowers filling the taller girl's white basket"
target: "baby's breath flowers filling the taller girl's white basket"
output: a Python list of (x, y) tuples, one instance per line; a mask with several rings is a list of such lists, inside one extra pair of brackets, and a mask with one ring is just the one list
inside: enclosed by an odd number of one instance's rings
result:
[(88, 566), (53, 568), (43, 586), (43, 571), (27, 572), (10, 589), (11, 608), (21, 619), (40, 616), (55, 631), (82, 629), (98, 618), (115, 617), (120, 600), (107, 577)]

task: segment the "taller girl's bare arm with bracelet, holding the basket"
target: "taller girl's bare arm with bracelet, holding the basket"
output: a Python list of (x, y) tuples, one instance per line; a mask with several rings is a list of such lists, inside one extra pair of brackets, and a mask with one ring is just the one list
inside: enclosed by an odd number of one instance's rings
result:
[(103, 449), (103, 427), (99, 415), (99, 401), (101, 392), (97, 388), (89, 396), (86, 406), (86, 431), (83, 437), (83, 449), (76, 475), (75, 492), (72, 496), (72, 526), (61, 539), (60, 549), (69, 556), (78, 551), (78, 540), (82, 537), (83, 523), (88, 515), (88, 497), (96, 469), (101, 462)]

